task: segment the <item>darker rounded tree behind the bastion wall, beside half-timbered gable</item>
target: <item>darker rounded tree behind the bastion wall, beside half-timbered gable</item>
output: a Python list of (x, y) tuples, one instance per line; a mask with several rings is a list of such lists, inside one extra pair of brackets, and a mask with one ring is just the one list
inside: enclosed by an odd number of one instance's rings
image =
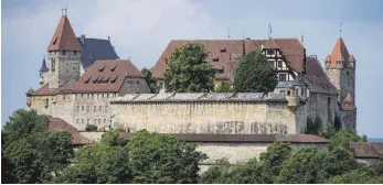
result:
[(277, 84), (277, 72), (260, 52), (253, 51), (240, 61), (234, 78), (236, 92), (268, 92)]

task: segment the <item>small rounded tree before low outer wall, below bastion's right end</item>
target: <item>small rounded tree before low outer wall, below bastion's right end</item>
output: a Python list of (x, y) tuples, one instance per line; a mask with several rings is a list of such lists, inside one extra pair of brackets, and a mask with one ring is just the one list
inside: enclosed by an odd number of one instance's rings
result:
[(291, 149), (287, 143), (273, 142), (267, 146), (266, 152), (260, 153), (259, 160), (264, 168), (268, 168), (269, 176), (275, 179), (283, 167), (283, 163), (291, 155)]

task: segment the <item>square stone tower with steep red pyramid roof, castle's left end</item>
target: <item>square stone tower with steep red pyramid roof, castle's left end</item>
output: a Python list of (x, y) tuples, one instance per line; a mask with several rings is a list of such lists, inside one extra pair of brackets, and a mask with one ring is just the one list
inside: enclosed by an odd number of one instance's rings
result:
[(70, 20), (63, 14), (47, 46), (50, 88), (58, 88), (65, 81), (79, 78), (81, 52)]

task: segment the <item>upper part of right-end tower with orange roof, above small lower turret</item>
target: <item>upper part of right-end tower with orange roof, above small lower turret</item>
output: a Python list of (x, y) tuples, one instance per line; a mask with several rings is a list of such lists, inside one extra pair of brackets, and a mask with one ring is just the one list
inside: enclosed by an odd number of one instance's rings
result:
[(342, 37), (338, 39), (331, 55), (325, 59), (327, 76), (338, 89), (339, 102), (350, 94), (355, 102), (355, 58), (349, 54)]

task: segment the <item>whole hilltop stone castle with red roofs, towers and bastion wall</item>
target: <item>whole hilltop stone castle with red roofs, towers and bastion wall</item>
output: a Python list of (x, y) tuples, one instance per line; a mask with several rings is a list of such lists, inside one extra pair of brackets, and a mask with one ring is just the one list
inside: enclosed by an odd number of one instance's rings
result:
[[(260, 50), (278, 73), (273, 92), (166, 92), (166, 58), (188, 42), (201, 42), (208, 62), (220, 73), (215, 81), (232, 83), (238, 61)], [(355, 129), (355, 58), (342, 37), (325, 69), (307, 56), (297, 39), (171, 41), (151, 69), (159, 94), (150, 88), (130, 59), (119, 59), (110, 40), (76, 37), (65, 14), (47, 46), (40, 85), (26, 92), (26, 105), (39, 115), (61, 118), (78, 130), (87, 124), (140, 129), (160, 133), (301, 134), (307, 118), (326, 128), (336, 119)]]

